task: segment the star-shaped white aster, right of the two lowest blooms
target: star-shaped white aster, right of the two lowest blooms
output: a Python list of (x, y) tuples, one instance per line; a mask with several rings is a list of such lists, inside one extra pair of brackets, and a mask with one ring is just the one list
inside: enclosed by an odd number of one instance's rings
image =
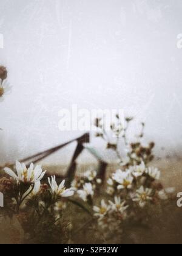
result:
[(143, 208), (147, 201), (152, 201), (152, 190), (150, 188), (144, 189), (143, 186), (136, 190), (136, 196), (133, 199), (134, 202), (138, 202), (141, 208)]

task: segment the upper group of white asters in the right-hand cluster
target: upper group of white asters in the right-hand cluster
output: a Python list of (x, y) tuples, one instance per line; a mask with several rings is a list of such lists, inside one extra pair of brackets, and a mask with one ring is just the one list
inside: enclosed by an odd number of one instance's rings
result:
[(157, 191), (153, 185), (159, 179), (160, 171), (157, 168), (147, 168), (142, 162), (140, 165), (130, 166), (125, 171), (118, 169), (107, 180), (107, 194), (120, 194), (121, 198), (128, 198), (143, 208), (153, 201), (154, 196), (167, 199), (164, 191)]

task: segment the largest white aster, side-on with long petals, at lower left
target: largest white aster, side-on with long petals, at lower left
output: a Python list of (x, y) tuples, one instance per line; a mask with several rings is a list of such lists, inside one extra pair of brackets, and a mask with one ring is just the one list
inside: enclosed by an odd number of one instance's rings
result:
[(12, 169), (10, 168), (4, 168), (4, 171), (6, 174), (13, 177), (18, 182), (31, 184), (41, 180), (46, 172), (42, 172), (42, 168), (40, 165), (34, 167), (33, 163), (31, 163), (30, 167), (27, 169), (24, 163), (21, 164), (18, 161), (16, 161), (16, 172), (18, 175), (16, 175), (15, 172), (12, 171)]

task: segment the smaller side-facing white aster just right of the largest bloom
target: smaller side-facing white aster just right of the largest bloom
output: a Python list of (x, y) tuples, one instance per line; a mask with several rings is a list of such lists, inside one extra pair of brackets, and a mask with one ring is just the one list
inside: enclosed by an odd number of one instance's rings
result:
[(62, 180), (62, 182), (59, 186), (56, 182), (55, 176), (52, 176), (51, 180), (50, 180), (50, 178), (48, 178), (48, 181), (49, 181), (49, 185), (50, 185), (53, 193), (55, 193), (61, 197), (73, 196), (74, 191), (72, 190), (72, 188), (66, 189), (66, 187), (64, 186), (65, 180)]

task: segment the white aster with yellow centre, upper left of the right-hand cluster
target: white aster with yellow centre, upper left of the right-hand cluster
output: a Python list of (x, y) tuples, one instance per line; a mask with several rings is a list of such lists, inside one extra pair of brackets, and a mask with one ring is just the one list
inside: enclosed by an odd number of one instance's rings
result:
[(130, 171), (124, 172), (119, 169), (115, 174), (113, 174), (112, 178), (120, 184), (118, 185), (118, 190), (132, 188), (133, 177)]

